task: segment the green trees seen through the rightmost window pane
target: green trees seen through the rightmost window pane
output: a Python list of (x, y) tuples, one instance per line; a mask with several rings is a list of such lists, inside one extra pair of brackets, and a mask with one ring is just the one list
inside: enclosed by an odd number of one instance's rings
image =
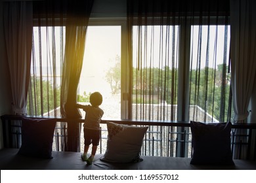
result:
[(227, 121), (230, 74), (224, 64), (216, 69), (205, 67), (190, 72), (190, 105), (203, 108), (220, 122)]

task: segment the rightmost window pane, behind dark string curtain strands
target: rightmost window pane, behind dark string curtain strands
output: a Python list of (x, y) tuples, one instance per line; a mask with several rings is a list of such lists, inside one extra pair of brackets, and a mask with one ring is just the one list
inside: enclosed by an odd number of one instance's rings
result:
[(191, 30), (190, 120), (226, 122), (231, 107), (230, 26), (194, 25)]

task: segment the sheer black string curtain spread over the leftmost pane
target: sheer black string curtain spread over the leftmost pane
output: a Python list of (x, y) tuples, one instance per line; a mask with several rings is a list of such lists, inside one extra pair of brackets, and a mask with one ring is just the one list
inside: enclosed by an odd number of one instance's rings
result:
[(67, 1), (33, 2), (32, 67), (28, 113), (60, 116)]

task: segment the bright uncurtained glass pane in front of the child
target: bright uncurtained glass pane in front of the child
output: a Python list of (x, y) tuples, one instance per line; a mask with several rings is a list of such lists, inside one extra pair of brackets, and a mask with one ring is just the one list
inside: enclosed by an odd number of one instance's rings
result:
[(121, 26), (88, 27), (78, 91), (81, 104), (100, 92), (102, 118), (121, 119)]

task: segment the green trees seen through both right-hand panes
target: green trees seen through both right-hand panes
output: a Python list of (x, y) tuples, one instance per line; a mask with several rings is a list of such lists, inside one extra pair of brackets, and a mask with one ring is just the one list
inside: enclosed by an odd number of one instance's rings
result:
[[(227, 69), (221, 64), (216, 69), (205, 67), (190, 71), (190, 105), (202, 108), (220, 121), (226, 121), (230, 102), (230, 74)], [(175, 68), (133, 69), (134, 103), (177, 105), (177, 88), (178, 70)]]

